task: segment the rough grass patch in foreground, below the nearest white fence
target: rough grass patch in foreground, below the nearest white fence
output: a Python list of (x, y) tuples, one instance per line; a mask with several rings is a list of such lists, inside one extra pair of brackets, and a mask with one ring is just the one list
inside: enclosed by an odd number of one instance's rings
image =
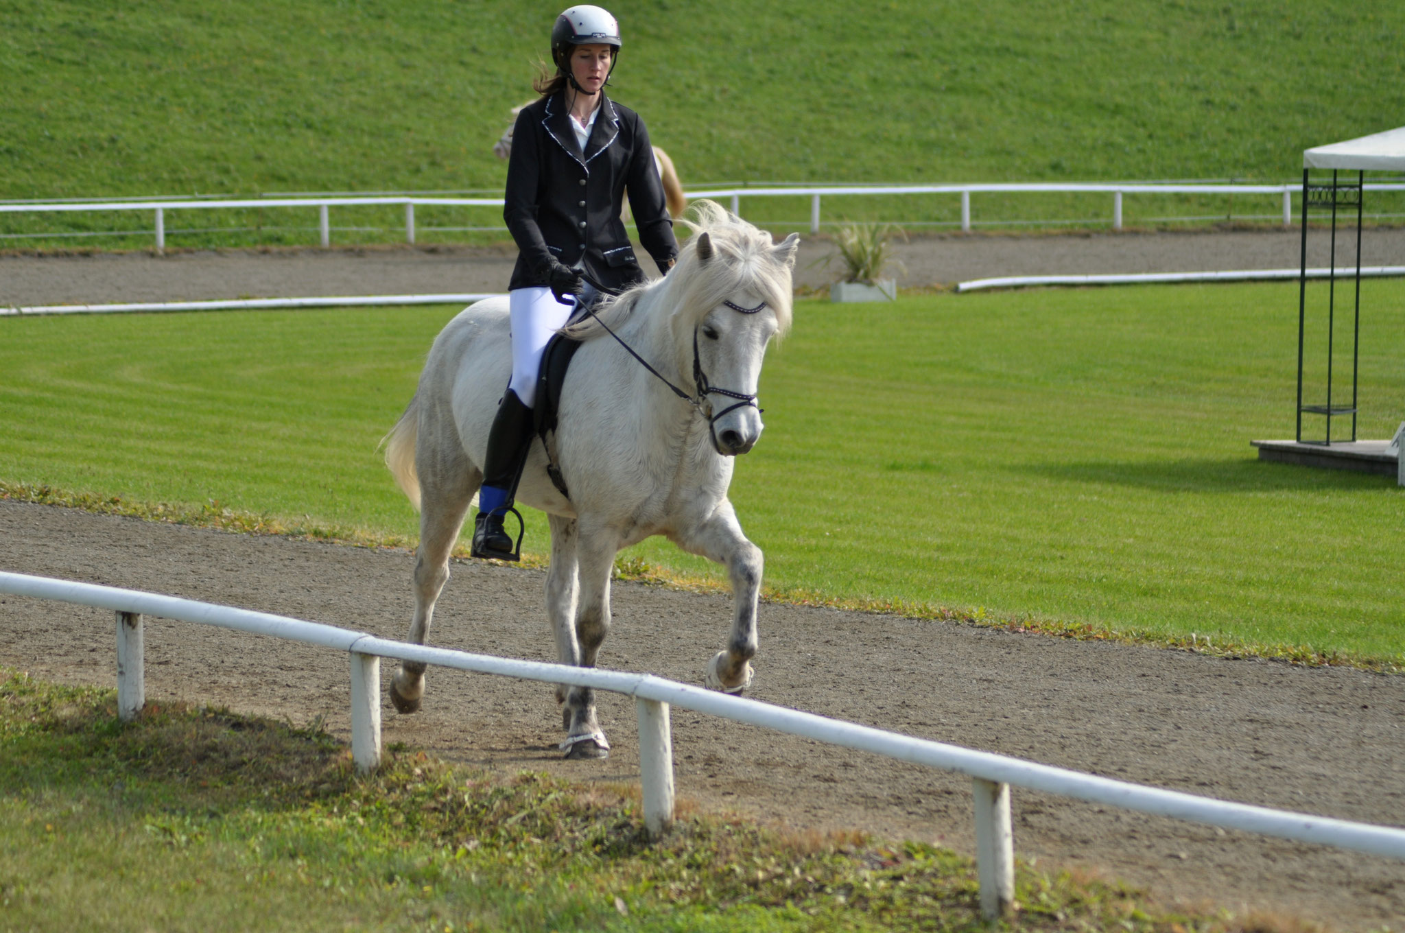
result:
[[(651, 843), (624, 794), (405, 752), (358, 778), (325, 733), (114, 705), (0, 669), (7, 930), (988, 929), (974, 866), (930, 846), (697, 816)], [(1016, 896), (1024, 930), (1243, 929), (1023, 864)]]

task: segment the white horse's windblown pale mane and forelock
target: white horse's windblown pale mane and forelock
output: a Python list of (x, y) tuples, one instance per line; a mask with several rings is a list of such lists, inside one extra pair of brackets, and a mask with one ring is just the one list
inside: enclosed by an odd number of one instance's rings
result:
[[(693, 236), (679, 252), (679, 261), (665, 278), (635, 285), (618, 298), (596, 308), (596, 316), (611, 330), (618, 330), (635, 306), (648, 296), (669, 298), (673, 316), (681, 318), (691, 329), (704, 315), (736, 296), (739, 292), (756, 295), (776, 313), (783, 336), (791, 326), (791, 267), (794, 249), (781, 249), (771, 242), (769, 230), (762, 230), (725, 211), (707, 198), (690, 207), (693, 219), (677, 222)], [(698, 256), (698, 243), (707, 233), (711, 256)], [(596, 318), (587, 318), (562, 330), (572, 340), (590, 340), (604, 334)]]

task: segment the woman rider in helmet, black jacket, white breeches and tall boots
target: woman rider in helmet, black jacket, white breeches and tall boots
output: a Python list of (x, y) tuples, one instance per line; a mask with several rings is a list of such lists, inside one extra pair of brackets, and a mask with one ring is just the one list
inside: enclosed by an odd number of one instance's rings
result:
[(516, 561), (503, 528), (532, 437), (537, 370), (551, 334), (575, 309), (584, 278), (618, 291), (643, 280), (620, 211), (629, 190), (639, 242), (666, 273), (679, 254), (649, 133), (606, 97), (620, 27), (606, 10), (570, 7), (551, 30), (555, 73), (513, 129), (503, 218), (517, 242), (509, 284), (513, 378), (488, 436), (473, 520), (476, 558)]

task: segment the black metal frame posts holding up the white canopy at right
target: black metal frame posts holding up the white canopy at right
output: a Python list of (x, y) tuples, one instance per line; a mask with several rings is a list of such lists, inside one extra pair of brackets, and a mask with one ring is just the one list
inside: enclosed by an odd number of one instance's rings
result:
[[(1332, 419), (1346, 415), (1352, 416), (1352, 441), (1356, 440), (1356, 386), (1357, 360), (1361, 336), (1361, 195), (1366, 190), (1366, 173), (1356, 173), (1356, 184), (1343, 184), (1338, 178), (1338, 171), (1332, 170), (1332, 184), (1311, 184), (1308, 169), (1302, 170), (1302, 261), (1298, 273), (1298, 410), (1297, 410), (1297, 441), (1300, 444), (1332, 444)], [(1336, 218), (1338, 207), (1356, 207), (1356, 296), (1352, 322), (1352, 403), (1332, 403), (1332, 365), (1335, 363), (1336, 341)], [(1332, 240), (1328, 264), (1328, 299), (1326, 299), (1326, 402), (1325, 405), (1302, 403), (1302, 351), (1307, 333), (1307, 295), (1308, 295), (1308, 209), (1319, 208), (1332, 211)], [(1326, 430), (1322, 440), (1302, 438), (1302, 415), (1322, 415), (1326, 417)]]

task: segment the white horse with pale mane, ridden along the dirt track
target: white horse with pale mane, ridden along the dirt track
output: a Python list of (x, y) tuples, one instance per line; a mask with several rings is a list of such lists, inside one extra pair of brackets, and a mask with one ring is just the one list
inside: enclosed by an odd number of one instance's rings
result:
[[(726, 566), (735, 613), (710, 687), (752, 680), (762, 551), (746, 540), (726, 489), (732, 457), (762, 434), (756, 385), (771, 337), (791, 323), (797, 235), (770, 233), (711, 201), (667, 277), (638, 285), (565, 329), (582, 340), (562, 389), (551, 459), (570, 497), (547, 476), (532, 441), (518, 502), (551, 521), (547, 614), (565, 665), (593, 667), (610, 629), (615, 555), (651, 535)], [(608, 327), (608, 330), (607, 330)], [(681, 399), (611, 337), (618, 334), (690, 399)], [(420, 509), (412, 642), (424, 644), (448, 556), (482, 482), (488, 431), (511, 370), (507, 301), (462, 311), (434, 340), (419, 391), (386, 436), (386, 465)], [(391, 684), (400, 712), (419, 710), (424, 665), (405, 662)], [(604, 757), (593, 691), (558, 686), (566, 757)]]

